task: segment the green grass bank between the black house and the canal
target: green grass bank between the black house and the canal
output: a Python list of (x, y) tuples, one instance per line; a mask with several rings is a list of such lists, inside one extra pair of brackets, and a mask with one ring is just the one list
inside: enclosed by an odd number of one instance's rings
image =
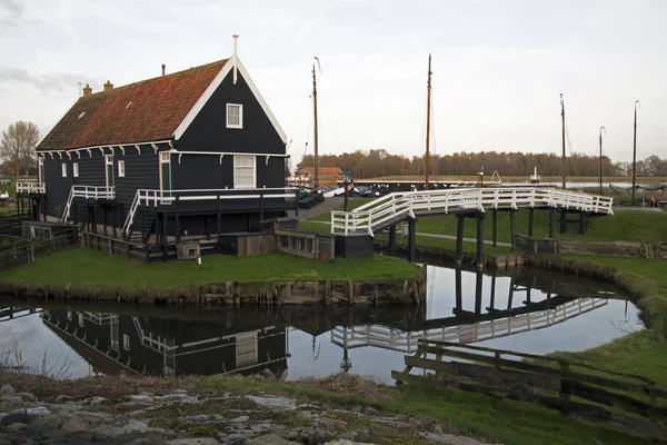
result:
[(97, 250), (72, 248), (2, 274), (6, 283), (52, 285), (186, 287), (223, 281), (388, 280), (418, 277), (420, 268), (399, 258), (337, 258), (315, 261), (286, 254), (237, 258), (210, 255), (193, 261), (133, 263)]

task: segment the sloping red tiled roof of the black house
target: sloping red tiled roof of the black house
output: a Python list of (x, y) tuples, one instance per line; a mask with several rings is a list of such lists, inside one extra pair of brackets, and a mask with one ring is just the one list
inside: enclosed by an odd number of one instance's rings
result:
[(37, 148), (63, 150), (171, 139), (226, 62), (81, 97)]

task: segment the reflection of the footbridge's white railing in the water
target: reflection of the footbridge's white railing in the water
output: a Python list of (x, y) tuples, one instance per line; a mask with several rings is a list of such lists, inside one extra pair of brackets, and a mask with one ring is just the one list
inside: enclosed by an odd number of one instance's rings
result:
[(331, 343), (345, 349), (372, 346), (412, 354), (417, 352), (418, 342), (421, 339), (462, 344), (484, 342), (544, 329), (606, 305), (607, 300), (601, 298), (577, 298), (552, 309), (422, 332), (404, 332), (380, 325), (336, 327), (331, 330)]

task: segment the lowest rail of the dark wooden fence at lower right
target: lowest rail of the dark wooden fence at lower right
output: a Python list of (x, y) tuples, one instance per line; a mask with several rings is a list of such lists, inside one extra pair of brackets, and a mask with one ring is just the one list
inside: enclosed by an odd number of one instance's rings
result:
[(595, 405), (566, 400), (559, 397), (528, 393), (524, 390), (497, 388), (478, 384), (456, 382), (446, 378), (435, 379), (431, 377), (405, 374), (396, 370), (391, 372), (391, 377), (404, 383), (411, 383), (434, 389), (441, 390), (457, 388), (469, 393), (480, 393), (491, 397), (506, 398), (510, 400), (534, 402), (550, 409), (558, 409), (561, 412), (573, 413), (583, 417), (588, 417), (604, 422), (607, 425), (617, 427), (636, 436), (650, 437), (656, 438), (658, 441), (667, 441), (667, 429), (659, 425), (639, 418), (629, 417), (624, 414), (613, 414), (609, 411)]

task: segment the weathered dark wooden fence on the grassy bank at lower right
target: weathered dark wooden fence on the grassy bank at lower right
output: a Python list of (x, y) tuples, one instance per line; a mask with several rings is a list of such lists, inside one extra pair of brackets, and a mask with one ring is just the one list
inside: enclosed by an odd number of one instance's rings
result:
[[(504, 358), (508, 356), (515, 358)], [(555, 357), (435, 340), (421, 340), (417, 353), (407, 355), (405, 363), (404, 372), (391, 372), (399, 383), (538, 403), (636, 436), (667, 441), (667, 408), (656, 404), (657, 398), (667, 398), (667, 388), (638, 375)], [(435, 373), (435, 378), (410, 374), (415, 367)]]

